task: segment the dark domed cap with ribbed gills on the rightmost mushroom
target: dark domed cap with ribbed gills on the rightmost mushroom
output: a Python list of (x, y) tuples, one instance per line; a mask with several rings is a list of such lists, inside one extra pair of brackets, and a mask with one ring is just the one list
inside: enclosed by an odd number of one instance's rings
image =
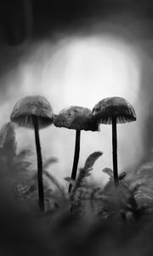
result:
[(93, 108), (94, 119), (100, 124), (111, 125), (112, 118), (123, 124), (136, 120), (133, 106), (122, 97), (108, 97), (98, 102)]

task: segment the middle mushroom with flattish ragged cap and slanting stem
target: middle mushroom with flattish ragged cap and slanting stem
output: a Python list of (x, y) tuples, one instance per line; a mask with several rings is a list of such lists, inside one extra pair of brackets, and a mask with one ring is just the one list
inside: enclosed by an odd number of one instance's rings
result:
[[(77, 106), (71, 106), (60, 111), (59, 115), (54, 120), (54, 125), (57, 127), (65, 127), (76, 130), (76, 145), (75, 154), (71, 172), (71, 179), (76, 180), (77, 165), (80, 154), (80, 138), (81, 131), (99, 131), (99, 125), (93, 120), (93, 115), (90, 109)], [(68, 192), (71, 193), (71, 183)]]

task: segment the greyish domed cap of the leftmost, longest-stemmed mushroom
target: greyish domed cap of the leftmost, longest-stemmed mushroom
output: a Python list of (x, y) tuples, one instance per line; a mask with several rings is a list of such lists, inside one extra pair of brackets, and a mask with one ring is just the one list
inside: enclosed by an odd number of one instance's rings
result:
[(16, 102), (10, 119), (21, 127), (33, 129), (32, 116), (37, 116), (39, 128), (53, 124), (54, 114), (50, 103), (44, 96), (21, 98)]

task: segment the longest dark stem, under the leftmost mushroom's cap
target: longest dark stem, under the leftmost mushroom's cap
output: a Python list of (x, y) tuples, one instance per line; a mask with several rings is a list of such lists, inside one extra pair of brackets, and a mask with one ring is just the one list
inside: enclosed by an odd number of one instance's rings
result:
[(41, 212), (44, 212), (44, 194), (43, 194), (43, 182), (42, 182), (42, 154), (39, 139), (39, 127), (37, 122), (37, 116), (32, 115), (32, 122), (35, 131), (35, 141), (37, 148), (37, 183), (38, 183), (38, 198), (39, 198), (39, 208)]

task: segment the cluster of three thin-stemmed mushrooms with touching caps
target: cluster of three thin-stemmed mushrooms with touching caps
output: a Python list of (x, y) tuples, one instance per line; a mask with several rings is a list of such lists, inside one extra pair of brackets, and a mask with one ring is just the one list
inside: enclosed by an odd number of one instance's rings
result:
[[(11, 121), (26, 128), (34, 129), (37, 148), (37, 183), (40, 210), (44, 211), (44, 194), (42, 182), (42, 154), (39, 129), (54, 125), (76, 130), (75, 154), (71, 179), (77, 177), (77, 165), (80, 153), (81, 131), (99, 131), (100, 124), (112, 124), (113, 172), (115, 186), (119, 184), (117, 171), (116, 124), (136, 120), (133, 106), (122, 97), (109, 97), (95, 105), (93, 111), (88, 108), (72, 106), (63, 109), (58, 115), (53, 113), (48, 100), (43, 96), (26, 96), (14, 106)], [(71, 184), (69, 185), (71, 193)]]

